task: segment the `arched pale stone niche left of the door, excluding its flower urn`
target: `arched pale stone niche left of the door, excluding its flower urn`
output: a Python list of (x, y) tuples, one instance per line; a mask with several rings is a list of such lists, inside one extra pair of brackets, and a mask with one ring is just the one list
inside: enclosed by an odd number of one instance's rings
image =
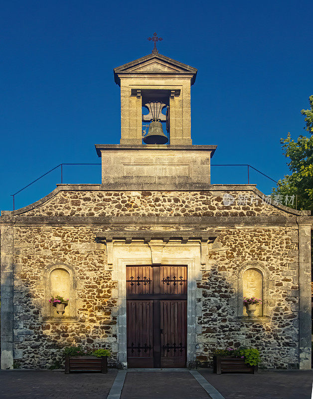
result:
[[(44, 280), (44, 321), (76, 321), (76, 280), (75, 270), (72, 265), (55, 263), (49, 265), (43, 275)], [(51, 297), (56, 295), (69, 299), (63, 315), (58, 315), (56, 308), (49, 303)]]

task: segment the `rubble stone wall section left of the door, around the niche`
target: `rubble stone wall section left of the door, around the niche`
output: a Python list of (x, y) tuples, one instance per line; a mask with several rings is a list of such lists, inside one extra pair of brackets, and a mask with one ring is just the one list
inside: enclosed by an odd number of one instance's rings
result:
[[(117, 357), (116, 283), (105, 271), (104, 245), (94, 243), (88, 227), (19, 227), (14, 256), (14, 358), (22, 367), (50, 367), (61, 360), (60, 349), (77, 344), (108, 348)], [(90, 243), (84, 245), (82, 243)], [(100, 248), (99, 248), (100, 246)], [(103, 247), (103, 248), (101, 248)], [(45, 269), (72, 265), (78, 281), (75, 322), (44, 321)], [(73, 305), (70, 298), (69, 306)], [(51, 305), (48, 305), (51, 306)]]

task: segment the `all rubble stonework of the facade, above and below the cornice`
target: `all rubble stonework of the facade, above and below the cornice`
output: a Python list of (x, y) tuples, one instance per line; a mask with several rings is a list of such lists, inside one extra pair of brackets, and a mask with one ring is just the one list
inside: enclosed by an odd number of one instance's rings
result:
[[(288, 216), (260, 200), (225, 206), (222, 193), (98, 191), (60, 192), (22, 216), (185, 214), (256, 215), (260, 219)], [(136, 229), (136, 225), (119, 228)], [(157, 228), (168, 229), (161, 223)], [(117, 365), (117, 281), (112, 281), (112, 271), (107, 267), (105, 244), (95, 242), (97, 232), (103, 229), (88, 225), (23, 226), (20, 221), (14, 226), (13, 355), (21, 367), (51, 367), (61, 360), (61, 349), (71, 344), (108, 348), (113, 354), (111, 364)], [(297, 225), (230, 225), (215, 228), (215, 233), (217, 239), (209, 244), (207, 265), (196, 290), (197, 362), (210, 364), (216, 347), (246, 344), (260, 349), (263, 367), (299, 367)], [(250, 261), (258, 261), (267, 270), (265, 306), (269, 321), (243, 321), (240, 311), (238, 314), (238, 273)], [(46, 270), (54, 264), (68, 265), (74, 271), (75, 317), (66, 322), (49, 318), (45, 310)]]

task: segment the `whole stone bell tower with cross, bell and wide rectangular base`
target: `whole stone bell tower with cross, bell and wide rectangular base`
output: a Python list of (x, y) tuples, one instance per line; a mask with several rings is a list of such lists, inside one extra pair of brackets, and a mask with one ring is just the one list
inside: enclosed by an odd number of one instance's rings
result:
[[(156, 34), (151, 39), (156, 44)], [(192, 145), (190, 87), (196, 74), (192, 66), (158, 54), (156, 45), (152, 54), (114, 69), (121, 87), (121, 141), (96, 145), (104, 189), (207, 190), (216, 146)]]

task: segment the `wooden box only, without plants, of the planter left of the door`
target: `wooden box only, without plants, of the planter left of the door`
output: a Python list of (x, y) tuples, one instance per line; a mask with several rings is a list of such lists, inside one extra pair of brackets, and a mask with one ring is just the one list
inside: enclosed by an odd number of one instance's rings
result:
[(108, 373), (108, 357), (65, 356), (65, 374), (69, 373)]

